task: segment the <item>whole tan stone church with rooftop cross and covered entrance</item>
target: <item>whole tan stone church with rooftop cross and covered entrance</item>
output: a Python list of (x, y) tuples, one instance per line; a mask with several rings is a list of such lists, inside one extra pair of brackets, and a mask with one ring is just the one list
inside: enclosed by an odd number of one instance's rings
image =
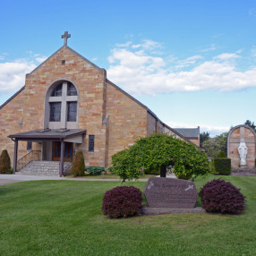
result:
[(64, 46), (0, 107), (0, 149), (8, 150), (14, 172), (31, 160), (59, 161), (63, 175), (77, 150), (86, 166), (107, 167), (112, 155), (152, 132), (192, 143), (68, 47), (70, 34), (62, 38)]

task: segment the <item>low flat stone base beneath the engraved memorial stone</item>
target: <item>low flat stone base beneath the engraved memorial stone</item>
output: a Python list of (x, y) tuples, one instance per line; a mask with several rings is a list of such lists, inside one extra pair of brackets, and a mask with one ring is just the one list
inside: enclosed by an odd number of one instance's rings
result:
[(184, 214), (184, 213), (204, 213), (205, 209), (201, 207), (196, 207), (192, 209), (182, 209), (182, 208), (141, 208), (142, 215), (159, 215), (159, 214)]

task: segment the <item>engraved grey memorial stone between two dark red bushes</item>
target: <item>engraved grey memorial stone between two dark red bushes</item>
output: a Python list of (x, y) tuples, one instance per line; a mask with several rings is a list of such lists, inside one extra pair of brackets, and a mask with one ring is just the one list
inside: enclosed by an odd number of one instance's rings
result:
[(144, 193), (150, 208), (192, 209), (198, 197), (194, 183), (158, 177), (149, 178)]

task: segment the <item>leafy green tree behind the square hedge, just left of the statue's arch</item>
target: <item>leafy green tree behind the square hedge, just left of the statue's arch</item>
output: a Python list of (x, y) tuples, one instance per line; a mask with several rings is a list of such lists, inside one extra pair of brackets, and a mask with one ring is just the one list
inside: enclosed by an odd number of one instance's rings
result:
[(208, 150), (207, 155), (209, 158), (218, 158), (220, 151), (224, 151), (225, 153), (227, 151), (226, 141), (227, 132), (224, 132), (214, 138), (209, 138), (209, 140), (204, 141), (202, 147)]

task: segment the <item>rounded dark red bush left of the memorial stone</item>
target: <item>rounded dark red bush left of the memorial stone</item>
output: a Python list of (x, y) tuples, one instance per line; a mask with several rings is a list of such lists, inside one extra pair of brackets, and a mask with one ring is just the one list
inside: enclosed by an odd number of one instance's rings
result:
[(109, 218), (141, 214), (142, 193), (133, 186), (119, 186), (105, 193), (102, 211)]

